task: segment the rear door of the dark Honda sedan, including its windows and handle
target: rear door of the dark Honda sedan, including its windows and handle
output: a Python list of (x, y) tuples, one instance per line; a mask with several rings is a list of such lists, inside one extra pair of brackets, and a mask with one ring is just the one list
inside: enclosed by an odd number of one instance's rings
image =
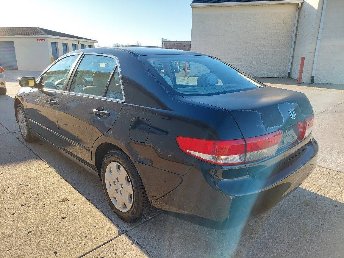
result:
[(92, 164), (93, 143), (111, 128), (124, 103), (118, 60), (84, 54), (71, 78), (57, 109), (61, 143), (67, 153)]

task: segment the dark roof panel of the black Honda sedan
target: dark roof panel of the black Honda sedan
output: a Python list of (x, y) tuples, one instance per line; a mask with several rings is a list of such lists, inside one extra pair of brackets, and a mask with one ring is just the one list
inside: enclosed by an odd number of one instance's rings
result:
[(70, 53), (103, 53), (103, 54), (110, 54), (115, 55), (118, 51), (125, 51), (135, 56), (142, 56), (142, 55), (200, 55), (206, 56), (205, 54), (194, 53), (190, 51), (183, 51), (178, 49), (161, 49), (161, 48), (154, 48), (154, 47), (94, 47), (89, 49), (79, 49), (75, 50)]

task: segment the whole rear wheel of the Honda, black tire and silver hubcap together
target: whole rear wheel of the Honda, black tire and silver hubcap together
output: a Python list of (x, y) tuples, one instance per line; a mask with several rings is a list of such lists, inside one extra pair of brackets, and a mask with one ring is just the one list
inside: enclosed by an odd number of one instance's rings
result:
[(150, 215), (152, 206), (140, 175), (124, 152), (106, 153), (101, 165), (101, 181), (110, 207), (123, 221), (133, 223)]

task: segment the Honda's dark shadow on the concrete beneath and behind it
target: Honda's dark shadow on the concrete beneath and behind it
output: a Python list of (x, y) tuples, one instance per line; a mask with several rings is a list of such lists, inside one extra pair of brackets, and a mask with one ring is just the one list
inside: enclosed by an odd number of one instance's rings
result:
[(14, 135), (155, 257), (335, 257), (344, 253), (344, 204), (331, 198), (299, 187), (267, 212), (229, 229), (211, 229), (163, 213), (145, 223), (128, 224), (110, 209), (99, 178), (48, 144), (28, 144), (19, 132)]

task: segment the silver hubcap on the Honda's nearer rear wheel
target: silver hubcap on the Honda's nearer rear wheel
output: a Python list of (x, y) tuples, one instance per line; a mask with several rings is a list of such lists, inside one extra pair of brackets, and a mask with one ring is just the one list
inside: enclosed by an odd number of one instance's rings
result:
[(129, 211), (134, 194), (129, 175), (122, 165), (115, 161), (108, 164), (105, 170), (105, 184), (115, 207), (122, 212)]

